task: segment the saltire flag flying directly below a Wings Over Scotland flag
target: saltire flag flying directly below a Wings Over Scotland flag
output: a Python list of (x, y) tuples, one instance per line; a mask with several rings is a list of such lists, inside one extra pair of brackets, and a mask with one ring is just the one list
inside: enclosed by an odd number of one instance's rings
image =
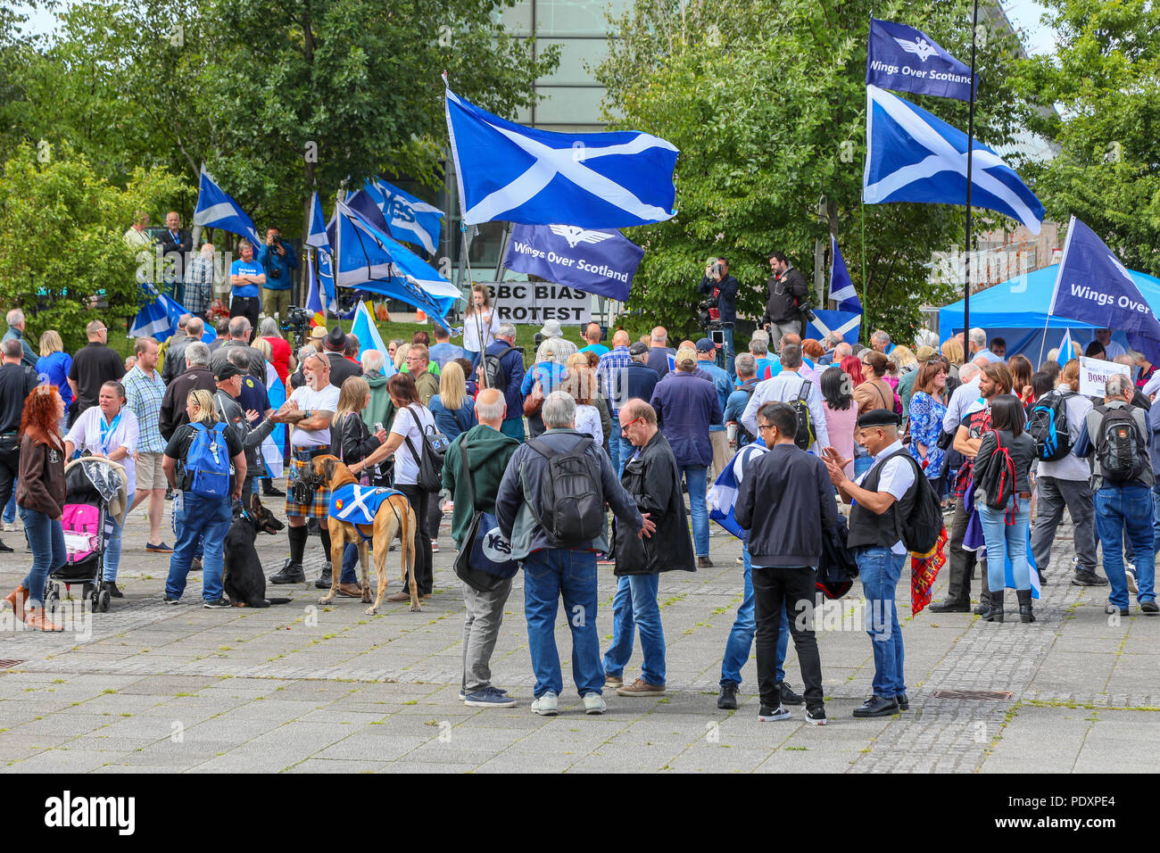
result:
[[(971, 205), (1039, 233), (1045, 210), (994, 151), (974, 142)], [(966, 204), (966, 133), (877, 86), (867, 86), (867, 204)]]

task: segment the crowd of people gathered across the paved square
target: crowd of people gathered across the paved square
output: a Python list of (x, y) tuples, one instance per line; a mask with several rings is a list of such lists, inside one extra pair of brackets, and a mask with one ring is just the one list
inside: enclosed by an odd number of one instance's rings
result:
[[(784, 259), (770, 260), (778, 274)], [(706, 279), (713, 276), (719, 294), (727, 265), (718, 261)], [(242, 287), (258, 287), (254, 279), (263, 275), (235, 274), (247, 280)], [(421, 331), (392, 340), (385, 354), (362, 349), (340, 326), (314, 328), (293, 352), (276, 321), (259, 321), (246, 308), (211, 344), (203, 341), (204, 318), (193, 313), (164, 345), (136, 339), (128, 369), (101, 320), (88, 324), (88, 344), (73, 355), (51, 330), (37, 355), (23, 338), (23, 315), (13, 310), (0, 342), (0, 505), (14, 496), (32, 568), (7, 601), (29, 626), (59, 629), (44, 612), (44, 590), (64, 563), (64, 467), (78, 455), (117, 465), (125, 512), (145, 506), (146, 549), (171, 555), (167, 603), (180, 603), (189, 573), (200, 571), (203, 606), (231, 605), (223, 543), (233, 503), (249, 506), (259, 480), (261, 494), (284, 498), (288, 520), (289, 554), (270, 581), (307, 583), (304, 557), (317, 533), (325, 568), (316, 585), (329, 588), (338, 571), (339, 592), (358, 598), (357, 548), (347, 547), (341, 565), (329, 563), (327, 489), (298, 487), (316, 457), (333, 454), (361, 484), (390, 486), (414, 507), (412, 571), (421, 599), (433, 593), (444, 512), (457, 551), (471, 548), (476, 513), (494, 516), (510, 561), (524, 571), (531, 707), (543, 715), (557, 713), (563, 691), (554, 639), (560, 600), (587, 713), (604, 710), (606, 689), (666, 692), (659, 576), (713, 565), (710, 515), (735, 519), (744, 566), (718, 706), (737, 707), (755, 645), (762, 720), (786, 718), (788, 706), (805, 704), (809, 722), (826, 722), (818, 644), (803, 614), (814, 606), (824, 543), (835, 536), (861, 577), (875, 660), (873, 694), (855, 716), (908, 708), (894, 599), (914, 557), (907, 530), (927, 496), (942, 509), (936, 516), (948, 520), (935, 550), (945, 542), (950, 563), (948, 595), (931, 610), (969, 612), (978, 565), (977, 612), (989, 622), (1003, 621), (1007, 587), (1015, 590), (1020, 620), (1035, 621), (1034, 587), (1068, 576), (1076, 585), (1110, 585), (1109, 614), (1129, 614), (1131, 593), (1140, 612), (1157, 613), (1160, 406), (1153, 412), (1151, 396), (1160, 376), (1140, 354), (1116, 353), (1134, 375), (1111, 376), (1093, 400), (1079, 393), (1071, 353), (1051, 352), (1034, 371), (1024, 356), (1006, 357), (1001, 340), (988, 347), (978, 328), (941, 348), (926, 331), (913, 349), (880, 331), (870, 347), (836, 335), (804, 340), (775, 309), (771, 302), (769, 330), (755, 331), (737, 354), (732, 335), (724, 346), (702, 338), (670, 347), (664, 327), (639, 340), (618, 328), (606, 346), (596, 324), (582, 330), (586, 346), (578, 347), (549, 321), (525, 364), (515, 327), (498, 321), (483, 287), (472, 291), (463, 346), (435, 328), (434, 344)], [(1104, 333), (1086, 352), (1095, 346), (1114, 352)], [(268, 390), (276, 382), (289, 396), (275, 407)], [(280, 467), (269, 464), (278, 425), (288, 427), (285, 492), (274, 483)], [(442, 482), (433, 486), (422, 468), (426, 439), (436, 433), (450, 447), (441, 457)], [(281, 463), (283, 449), (274, 451)], [(715, 487), (723, 483), (730, 489)], [(724, 494), (732, 498), (723, 504)], [(172, 547), (161, 529), (167, 498)], [(1052, 571), (1064, 509), (1075, 525), (1074, 568)], [(125, 512), (114, 521), (103, 561), (101, 585), (114, 598), (122, 595)], [(596, 629), (602, 564), (617, 577), (603, 655)], [(510, 573), (486, 588), (464, 584), (462, 689), (471, 706), (515, 703), (490, 674), (510, 588)], [(408, 599), (407, 584), (387, 598)], [(636, 636), (644, 660), (628, 682)], [(802, 694), (783, 670), (790, 638)]]

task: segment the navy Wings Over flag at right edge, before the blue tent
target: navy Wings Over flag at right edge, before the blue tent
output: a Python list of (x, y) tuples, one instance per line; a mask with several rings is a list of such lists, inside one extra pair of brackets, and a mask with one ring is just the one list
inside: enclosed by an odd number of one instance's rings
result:
[(1118, 328), (1133, 349), (1160, 363), (1160, 321), (1104, 241), (1072, 217), (1049, 315)]

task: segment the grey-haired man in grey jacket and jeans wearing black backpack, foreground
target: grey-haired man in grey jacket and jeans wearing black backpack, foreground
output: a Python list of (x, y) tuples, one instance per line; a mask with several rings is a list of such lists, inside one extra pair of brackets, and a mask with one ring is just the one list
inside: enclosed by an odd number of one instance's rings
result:
[[(711, 390), (711, 389), (710, 389)], [(524, 615), (536, 673), (531, 709), (556, 716), (564, 689), (556, 648), (556, 614), (563, 597), (572, 631), (572, 672), (586, 714), (603, 714), (604, 670), (596, 630), (596, 552), (608, 551), (604, 506), (640, 535), (655, 525), (641, 516), (603, 450), (574, 428), (575, 402), (563, 391), (544, 399), (543, 435), (512, 455), (495, 497), (500, 533), (524, 572)], [(506, 421), (505, 421), (506, 422)], [(561, 472), (565, 472), (561, 476)], [(690, 483), (690, 490), (691, 490)], [(551, 529), (542, 523), (550, 519)], [(571, 522), (571, 523), (567, 523)], [(592, 538), (585, 538), (592, 534)]]

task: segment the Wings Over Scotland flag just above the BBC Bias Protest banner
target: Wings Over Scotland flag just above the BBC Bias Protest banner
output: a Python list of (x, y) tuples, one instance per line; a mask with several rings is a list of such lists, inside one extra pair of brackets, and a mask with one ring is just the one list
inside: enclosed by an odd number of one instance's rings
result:
[(503, 266), (587, 294), (628, 302), (645, 251), (615, 229), (516, 225)]

